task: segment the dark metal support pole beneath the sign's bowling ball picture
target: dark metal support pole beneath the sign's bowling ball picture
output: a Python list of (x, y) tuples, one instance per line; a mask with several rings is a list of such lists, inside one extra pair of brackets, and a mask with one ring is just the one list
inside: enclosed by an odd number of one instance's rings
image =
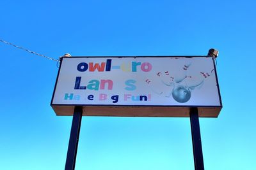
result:
[(189, 114), (190, 114), (192, 141), (193, 141), (195, 170), (204, 170), (204, 157), (203, 157), (203, 151), (202, 151), (198, 109), (191, 108)]

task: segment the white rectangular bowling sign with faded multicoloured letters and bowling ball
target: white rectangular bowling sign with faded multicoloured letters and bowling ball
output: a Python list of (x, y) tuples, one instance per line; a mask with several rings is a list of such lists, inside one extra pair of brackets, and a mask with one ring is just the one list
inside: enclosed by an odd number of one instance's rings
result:
[(52, 96), (57, 115), (218, 117), (222, 108), (211, 57), (63, 57)]

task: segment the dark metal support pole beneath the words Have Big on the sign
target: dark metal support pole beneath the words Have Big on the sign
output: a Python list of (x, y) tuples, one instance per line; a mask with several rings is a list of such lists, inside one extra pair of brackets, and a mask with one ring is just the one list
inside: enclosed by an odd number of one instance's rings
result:
[(74, 170), (83, 108), (76, 106), (72, 120), (65, 170)]

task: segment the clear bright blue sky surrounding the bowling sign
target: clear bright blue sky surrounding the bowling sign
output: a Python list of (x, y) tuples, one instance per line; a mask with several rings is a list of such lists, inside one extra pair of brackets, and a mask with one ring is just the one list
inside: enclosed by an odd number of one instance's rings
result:
[[(255, 1), (1, 1), (0, 39), (58, 59), (220, 51), (223, 109), (200, 118), (207, 170), (256, 169)], [(56, 62), (0, 42), (0, 169), (64, 169), (72, 117)], [(83, 117), (76, 169), (194, 169), (189, 118)]]

